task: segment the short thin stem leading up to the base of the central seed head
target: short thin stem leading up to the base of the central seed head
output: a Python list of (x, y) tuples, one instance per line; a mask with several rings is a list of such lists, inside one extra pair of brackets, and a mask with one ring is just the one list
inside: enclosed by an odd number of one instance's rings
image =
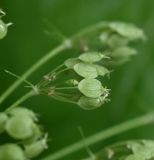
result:
[(32, 97), (36, 95), (36, 93), (32, 90), (30, 92), (28, 92), (27, 94), (25, 94), (24, 96), (22, 96), (21, 98), (19, 98), (16, 102), (14, 102), (10, 107), (8, 107), (5, 112), (10, 111), (11, 109), (19, 106), (22, 102), (26, 101), (28, 98)]

